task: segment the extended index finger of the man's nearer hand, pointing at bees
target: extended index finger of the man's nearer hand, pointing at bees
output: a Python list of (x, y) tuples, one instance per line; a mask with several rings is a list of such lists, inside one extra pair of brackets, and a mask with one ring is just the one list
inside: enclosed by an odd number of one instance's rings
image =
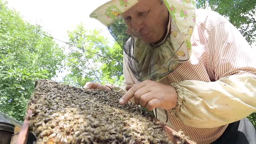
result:
[(131, 87), (126, 93), (125, 95), (123, 95), (123, 97), (119, 100), (119, 104), (120, 105), (124, 105), (127, 101), (129, 101), (133, 96), (134, 93), (144, 87), (145, 83), (141, 82), (139, 84), (134, 85), (133, 87)]

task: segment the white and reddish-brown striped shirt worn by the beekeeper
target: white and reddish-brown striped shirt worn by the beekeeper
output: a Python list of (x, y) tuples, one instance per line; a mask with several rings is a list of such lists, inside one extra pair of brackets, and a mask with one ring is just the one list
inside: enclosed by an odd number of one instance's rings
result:
[[(165, 85), (178, 84), (187, 80), (195, 80), (195, 83), (209, 83), (216, 82), (230, 75), (245, 75), (256, 79), (256, 59), (253, 56), (255, 51), (253, 51), (239, 31), (228, 20), (216, 12), (197, 10), (196, 15), (196, 26), (191, 37), (192, 55), (190, 59), (179, 65), (174, 72), (171, 72), (159, 82)], [(124, 55), (125, 85), (139, 83), (129, 69), (125, 57)], [(201, 85), (201, 87), (204, 87), (204, 85)], [(224, 91), (220, 91), (220, 93), (224, 93)], [(191, 90), (191, 93), (193, 93), (193, 90)], [(255, 99), (254, 94), (252, 95)], [(252, 105), (255, 105), (255, 102)], [(183, 105), (179, 105), (179, 108), (184, 108), (185, 106), (186, 101), (183, 101)], [(193, 110), (191, 111), (193, 112)], [(157, 116), (163, 122), (168, 117), (167, 125), (169, 127), (175, 131), (184, 131), (187, 136), (199, 144), (209, 144), (215, 141), (223, 134), (228, 125), (226, 123), (217, 127), (214, 126), (213, 128), (209, 128), (208, 126), (206, 128), (189, 126), (189, 123), (184, 124), (184, 118), (178, 118), (181, 117), (181, 114), (174, 115), (173, 109), (167, 110), (166, 115), (166, 112), (162, 108), (157, 108)], [(190, 121), (193, 121), (193, 118)], [(229, 121), (232, 122), (235, 120)], [(212, 125), (214, 124), (212, 123)]]

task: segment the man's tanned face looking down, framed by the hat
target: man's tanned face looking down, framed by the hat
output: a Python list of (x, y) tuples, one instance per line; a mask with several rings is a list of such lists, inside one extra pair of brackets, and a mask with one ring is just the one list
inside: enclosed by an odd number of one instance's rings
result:
[(128, 28), (146, 43), (158, 42), (167, 31), (168, 11), (160, 0), (140, 0), (122, 17)]

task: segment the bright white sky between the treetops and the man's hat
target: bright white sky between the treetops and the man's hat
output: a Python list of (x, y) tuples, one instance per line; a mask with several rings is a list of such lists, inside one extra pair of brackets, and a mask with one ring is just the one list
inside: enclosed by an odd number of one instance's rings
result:
[(7, 0), (7, 7), (15, 9), (23, 20), (39, 24), (53, 37), (67, 41), (67, 31), (86, 24), (87, 29), (102, 29), (109, 40), (113, 40), (106, 26), (89, 14), (108, 0)]

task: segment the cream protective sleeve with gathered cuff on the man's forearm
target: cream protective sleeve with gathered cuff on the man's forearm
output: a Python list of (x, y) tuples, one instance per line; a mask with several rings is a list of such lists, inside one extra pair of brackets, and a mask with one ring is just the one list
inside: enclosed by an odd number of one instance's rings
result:
[(238, 121), (256, 111), (256, 80), (230, 75), (216, 82), (183, 81), (172, 84), (178, 93), (173, 114), (184, 124), (213, 128)]

